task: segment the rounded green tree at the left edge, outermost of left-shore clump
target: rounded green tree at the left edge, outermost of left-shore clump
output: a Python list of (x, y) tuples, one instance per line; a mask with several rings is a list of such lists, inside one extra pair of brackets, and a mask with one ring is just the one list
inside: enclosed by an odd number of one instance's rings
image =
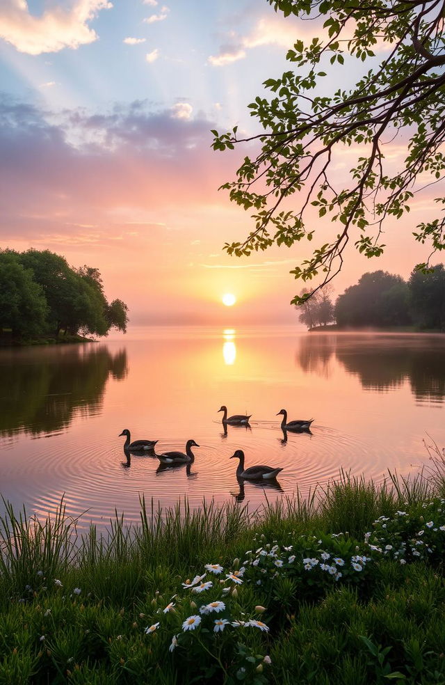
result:
[(42, 288), (25, 269), (17, 253), (0, 251), (0, 333), (11, 329), (13, 338), (40, 336), (46, 326), (47, 302)]

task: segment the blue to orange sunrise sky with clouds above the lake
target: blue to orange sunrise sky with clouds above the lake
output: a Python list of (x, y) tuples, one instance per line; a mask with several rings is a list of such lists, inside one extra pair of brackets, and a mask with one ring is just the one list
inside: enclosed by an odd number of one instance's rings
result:
[[(213, 152), (211, 129), (257, 132), (248, 104), (316, 28), (266, 0), (1, 0), (0, 246), (97, 267), (131, 324), (296, 322), (289, 271), (309, 246), (224, 253), (253, 227), (218, 191), (248, 149)], [(428, 256), (411, 233), (431, 204), (389, 223), (384, 257), (348, 247), (335, 294), (365, 271), (407, 278)]]

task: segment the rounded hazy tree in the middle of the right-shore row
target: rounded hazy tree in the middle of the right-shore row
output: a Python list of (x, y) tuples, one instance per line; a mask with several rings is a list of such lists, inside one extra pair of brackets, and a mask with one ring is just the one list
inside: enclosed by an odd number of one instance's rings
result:
[(387, 271), (363, 274), (335, 304), (339, 326), (403, 326), (411, 322), (408, 288), (401, 276)]

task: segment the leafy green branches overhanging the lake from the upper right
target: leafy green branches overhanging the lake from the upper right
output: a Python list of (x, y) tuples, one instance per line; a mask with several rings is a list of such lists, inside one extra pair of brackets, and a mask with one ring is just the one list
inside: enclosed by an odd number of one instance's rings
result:
[[(296, 69), (265, 81), (275, 95), (270, 100), (256, 97), (249, 105), (262, 132), (244, 138), (238, 138), (237, 127), (225, 134), (212, 132), (215, 150), (252, 141), (257, 143), (254, 150), (261, 146), (256, 156), (244, 158), (236, 180), (223, 185), (232, 201), (257, 210), (248, 237), (226, 243), (225, 250), (249, 255), (272, 244), (289, 247), (312, 240), (316, 228), (306, 223), (312, 205), (320, 219), (329, 216), (334, 222), (333, 235), (291, 274), (302, 281), (321, 274), (318, 290), (338, 274), (351, 238), (367, 257), (380, 255), (385, 219), (409, 212), (414, 193), (427, 187), (428, 180), (442, 182), (444, 0), (268, 3), (285, 16), (314, 19), (320, 35), (309, 45), (298, 40), (286, 55)], [(382, 55), (380, 61), (376, 52)], [(332, 95), (330, 84), (341, 79), (341, 68), (344, 72), (353, 67), (354, 60), (363, 63), (362, 77), (350, 90), (339, 88)], [(331, 70), (331, 78), (321, 93), (325, 69)], [(394, 139), (405, 150), (395, 170), (394, 159), (387, 162), (384, 155), (385, 144)], [(346, 147), (356, 149), (357, 159), (342, 182), (335, 163)], [(436, 202), (443, 205), (445, 199)], [(438, 214), (419, 223), (413, 235), (437, 251), (445, 248), (444, 230), (444, 215)], [(417, 267), (427, 269), (428, 264)], [(307, 297), (296, 296), (293, 303)]]

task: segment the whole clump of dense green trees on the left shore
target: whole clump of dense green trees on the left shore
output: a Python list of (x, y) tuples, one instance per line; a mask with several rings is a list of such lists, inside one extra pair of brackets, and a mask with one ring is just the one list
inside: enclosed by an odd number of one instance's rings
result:
[(0, 251), (0, 334), (13, 340), (127, 331), (127, 305), (108, 304), (98, 269), (70, 267), (49, 250)]

